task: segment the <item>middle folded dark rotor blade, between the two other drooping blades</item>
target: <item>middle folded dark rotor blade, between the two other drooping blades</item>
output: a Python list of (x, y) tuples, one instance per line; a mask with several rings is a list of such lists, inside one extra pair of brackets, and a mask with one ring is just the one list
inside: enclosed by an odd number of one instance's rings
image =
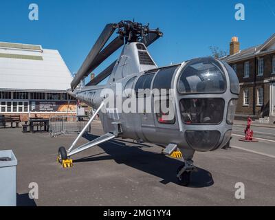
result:
[(124, 39), (119, 36), (115, 38), (107, 47), (105, 47), (100, 54), (95, 58), (94, 62), (89, 65), (87, 74), (91, 73), (98, 67), (103, 61), (105, 61), (111, 54), (118, 50), (122, 45), (124, 45)]

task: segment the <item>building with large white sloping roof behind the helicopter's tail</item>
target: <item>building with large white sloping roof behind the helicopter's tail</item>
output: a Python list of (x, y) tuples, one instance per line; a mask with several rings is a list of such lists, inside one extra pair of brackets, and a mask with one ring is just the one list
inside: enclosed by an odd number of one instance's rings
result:
[(72, 75), (57, 50), (0, 42), (0, 115), (75, 115)]

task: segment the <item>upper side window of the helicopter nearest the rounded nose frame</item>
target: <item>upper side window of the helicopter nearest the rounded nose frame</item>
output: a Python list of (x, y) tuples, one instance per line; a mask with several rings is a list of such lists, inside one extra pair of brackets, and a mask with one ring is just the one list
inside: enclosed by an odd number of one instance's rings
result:
[(153, 89), (170, 89), (172, 78), (177, 67), (178, 66), (173, 66), (165, 69), (160, 69), (157, 73), (157, 76), (155, 76)]

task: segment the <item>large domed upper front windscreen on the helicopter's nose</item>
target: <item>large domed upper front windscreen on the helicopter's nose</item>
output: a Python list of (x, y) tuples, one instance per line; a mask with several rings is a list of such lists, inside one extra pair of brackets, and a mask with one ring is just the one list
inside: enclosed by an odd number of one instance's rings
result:
[(179, 78), (178, 90), (181, 94), (222, 93), (225, 89), (225, 76), (214, 58), (190, 61)]

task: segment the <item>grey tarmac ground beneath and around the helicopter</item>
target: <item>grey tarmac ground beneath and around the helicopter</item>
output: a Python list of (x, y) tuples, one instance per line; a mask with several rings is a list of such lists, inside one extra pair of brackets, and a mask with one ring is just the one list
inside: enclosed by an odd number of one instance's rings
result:
[[(234, 133), (242, 130), (235, 126)], [(258, 130), (257, 130), (258, 131)], [(260, 129), (259, 132), (273, 130)], [(100, 135), (101, 126), (93, 124)], [(259, 134), (260, 135), (260, 134)], [(262, 136), (274, 140), (272, 136)], [(74, 168), (56, 162), (59, 146), (68, 147), (74, 135), (51, 138), (47, 133), (0, 129), (0, 150), (12, 149), (19, 160), (17, 192), (20, 206), (274, 206), (275, 142), (239, 142), (231, 148), (196, 153), (197, 173), (189, 187), (179, 186), (177, 159), (160, 155), (161, 148), (113, 140), (76, 155)], [(91, 139), (90, 135), (87, 137)], [(87, 142), (82, 138), (80, 143)], [(259, 153), (266, 153), (261, 155)], [(39, 184), (39, 199), (28, 199), (30, 182)], [(245, 184), (245, 199), (234, 198), (235, 184)]]

